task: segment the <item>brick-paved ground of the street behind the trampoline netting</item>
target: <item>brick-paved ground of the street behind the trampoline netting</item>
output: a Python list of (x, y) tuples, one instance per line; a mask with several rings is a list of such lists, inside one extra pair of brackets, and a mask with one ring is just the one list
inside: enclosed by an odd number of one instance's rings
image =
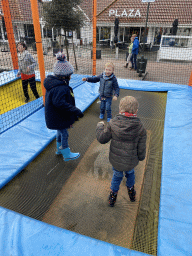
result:
[[(134, 71), (129, 71), (124, 68), (126, 51), (119, 51), (117, 56), (114, 50), (108, 48), (98, 48), (101, 50), (101, 59), (97, 59), (97, 74), (100, 74), (104, 65), (107, 61), (112, 61), (115, 65), (115, 74), (118, 78), (141, 80), (138, 74)], [(36, 52), (32, 51), (34, 58), (37, 60)], [(66, 49), (64, 49), (66, 53)], [(176, 84), (188, 84), (189, 77), (192, 71), (191, 63), (189, 62), (175, 62), (175, 61), (160, 61), (157, 62), (157, 52), (144, 52), (138, 55), (138, 57), (147, 58), (147, 69), (148, 72), (145, 81), (155, 81), (163, 83), (176, 83)], [(90, 47), (77, 47), (75, 48), (75, 55), (73, 49), (69, 48), (69, 58), (71, 64), (77, 69), (76, 73), (79, 74), (92, 74), (92, 60), (91, 60), (91, 48)], [(76, 58), (76, 62), (75, 62)], [(50, 49), (47, 55), (44, 55), (45, 69), (46, 71), (52, 71), (55, 57), (53, 51)], [(0, 52), (0, 69), (11, 70), (12, 61), (9, 52)]]

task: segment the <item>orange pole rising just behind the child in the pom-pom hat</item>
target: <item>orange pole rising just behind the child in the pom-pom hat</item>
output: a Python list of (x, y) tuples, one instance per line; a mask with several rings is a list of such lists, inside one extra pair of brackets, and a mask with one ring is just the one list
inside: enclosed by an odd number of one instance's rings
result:
[(43, 94), (43, 102), (45, 104), (46, 90), (43, 85), (43, 82), (45, 79), (45, 67), (44, 67), (43, 46), (42, 46), (42, 40), (41, 40), (41, 28), (39, 23), (39, 12), (38, 12), (37, 0), (31, 0), (31, 10), (32, 10), (37, 56), (38, 56), (38, 63), (39, 63), (39, 70), (40, 70), (40, 77), (41, 77), (41, 89)]

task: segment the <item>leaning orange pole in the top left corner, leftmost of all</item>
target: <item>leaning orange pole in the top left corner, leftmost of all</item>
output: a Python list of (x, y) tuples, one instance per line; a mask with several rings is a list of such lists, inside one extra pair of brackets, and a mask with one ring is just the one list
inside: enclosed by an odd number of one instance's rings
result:
[(11, 12), (9, 8), (9, 1), (2, 0), (2, 9), (4, 14), (5, 26), (7, 31), (7, 38), (9, 42), (9, 49), (11, 52), (11, 58), (13, 63), (13, 68), (16, 70), (18, 69), (18, 57), (17, 57), (17, 47), (15, 44), (14, 32), (13, 32), (13, 25), (11, 20)]

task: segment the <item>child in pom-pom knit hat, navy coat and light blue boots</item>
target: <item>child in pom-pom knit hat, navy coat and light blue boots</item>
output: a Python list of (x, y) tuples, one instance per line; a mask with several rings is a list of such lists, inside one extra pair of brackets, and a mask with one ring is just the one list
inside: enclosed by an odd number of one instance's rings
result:
[(56, 142), (58, 155), (63, 155), (64, 161), (77, 159), (80, 154), (72, 153), (68, 145), (68, 128), (83, 117), (83, 113), (75, 106), (72, 88), (69, 86), (73, 66), (66, 61), (62, 53), (57, 54), (54, 65), (54, 75), (44, 80), (45, 94), (45, 121), (47, 128), (57, 130)]

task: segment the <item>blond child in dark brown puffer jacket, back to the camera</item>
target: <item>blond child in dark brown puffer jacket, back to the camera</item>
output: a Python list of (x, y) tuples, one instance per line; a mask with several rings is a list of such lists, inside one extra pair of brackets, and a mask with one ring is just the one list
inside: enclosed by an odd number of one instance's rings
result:
[(97, 140), (101, 144), (111, 140), (109, 161), (112, 164), (113, 178), (109, 195), (110, 206), (114, 206), (116, 202), (124, 173), (129, 198), (132, 202), (135, 201), (134, 168), (139, 161), (145, 159), (147, 138), (146, 130), (137, 117), (138, 106), (134, 97), (126, 96), (120, 100), (119, 114), (111, 119), (106, 128), (102, 121), (97, 124)]

